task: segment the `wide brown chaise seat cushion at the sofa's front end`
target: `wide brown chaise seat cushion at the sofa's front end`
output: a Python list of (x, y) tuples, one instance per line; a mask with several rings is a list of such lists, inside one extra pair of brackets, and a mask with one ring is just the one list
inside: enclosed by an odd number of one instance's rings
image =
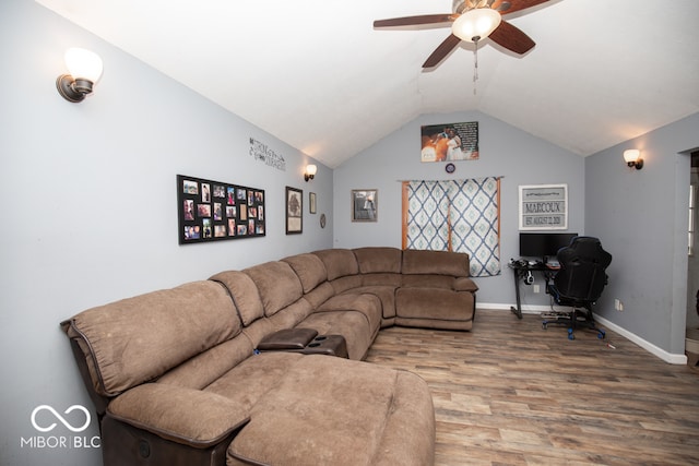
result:
[(416, 374), (306, 356), (253, 407), (227, 464), (424, 466), (434, 462), (434, 417)]

